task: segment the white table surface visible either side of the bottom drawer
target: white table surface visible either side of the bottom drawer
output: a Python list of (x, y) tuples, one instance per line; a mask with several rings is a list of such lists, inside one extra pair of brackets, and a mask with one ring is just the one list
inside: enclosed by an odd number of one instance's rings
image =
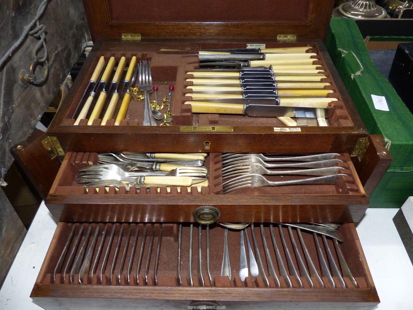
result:
[[(413, 266), (392, 218), (396, 209), (368, 209), (357, 226), (381, 303), (379, 310), (413, 309)], [(2, 310), (40, 310), (30, 293), (56, 229), (44, 203), (36, 214), (0, 291)]]

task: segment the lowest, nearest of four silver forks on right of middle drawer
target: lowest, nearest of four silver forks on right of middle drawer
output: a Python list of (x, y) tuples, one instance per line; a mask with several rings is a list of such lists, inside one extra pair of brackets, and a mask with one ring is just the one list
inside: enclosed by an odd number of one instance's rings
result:
[(223, 193), (229, 193), (237, 189), (246, 187), (261, 187), (261, 186), (280, 186), (280, 185), (296, 185), (296, 184), (335, 184), (340, 178), (347, 174), (334, 174), (329, 176), (317, 176), (315, 178), (289, 180), (289, 181), (268, 181), (261, 174), (247, 174), (237, 176), (234, 179), (226, 181), (222, 184)]

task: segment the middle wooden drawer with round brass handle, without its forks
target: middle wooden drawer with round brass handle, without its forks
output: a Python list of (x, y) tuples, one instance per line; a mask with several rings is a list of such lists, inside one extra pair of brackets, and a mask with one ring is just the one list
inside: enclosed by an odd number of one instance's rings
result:
[[(66, 154), (46, 205), (60, 221), (193, 222), (194, 210), (218, 208), (223, 222), (358, 222), (368, 199), (348, 154), (340, 154), (344, 176), (336, 184), (301, 184), (242, 188), (223, 194), (222, 154), (209, 153), (209, 186), (114, 187), (86, 190), (76, 183), (81, 167), (97, 164), (97, 153)], [(306, 176), (266, 176), (273, 181)], [(224, 180), (226, 181), (226, 180)], [(196, 184), (195, 184), (196, 185)]]

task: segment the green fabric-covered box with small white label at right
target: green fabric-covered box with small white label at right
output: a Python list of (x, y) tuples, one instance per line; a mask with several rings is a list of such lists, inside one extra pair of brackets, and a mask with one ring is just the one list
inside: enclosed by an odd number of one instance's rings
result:
[[(393, 157), (370, 207), (401, 207), (413, 196), (413, 115), (371, 61), (354, 19), (332, 18), (325, 45), (368, 132), (382, 135)], [(372, 94), (384, 96), (389, 111), (377, 110)]]

